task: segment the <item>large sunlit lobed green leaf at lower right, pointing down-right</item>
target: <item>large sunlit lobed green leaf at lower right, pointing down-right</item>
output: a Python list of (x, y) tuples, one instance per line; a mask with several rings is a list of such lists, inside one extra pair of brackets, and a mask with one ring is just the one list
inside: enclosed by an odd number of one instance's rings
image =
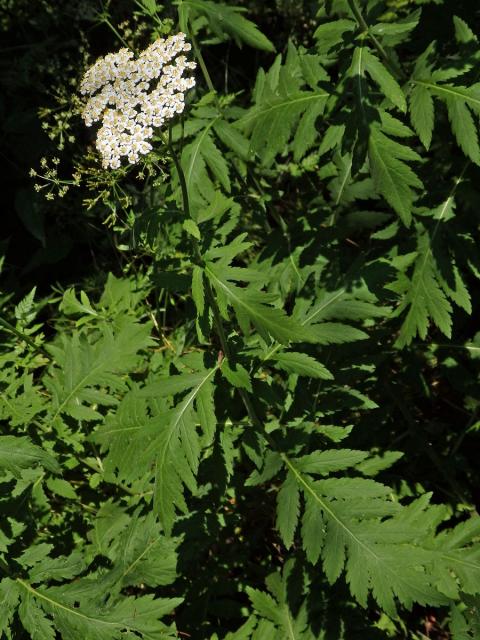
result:
[(305, 496), (302, 537), (307, 557), (316, 559), (321, 548), (330, 583), (345, 568), (350, 591), (360, 604), (366, 606), (371, 591), (389, 615), (395, 614), (395, 598), (407, 607), (414, 601), (447, 602), (429, 573), (419, 570), (431, 558), (415, 544), (422, 525), (405, 526), (400, 511), (386, 517), (398, 507), (389, 504), (387, 487), (354, 478), (313, 481), (295, 462), (288, 461), (287, 467)]

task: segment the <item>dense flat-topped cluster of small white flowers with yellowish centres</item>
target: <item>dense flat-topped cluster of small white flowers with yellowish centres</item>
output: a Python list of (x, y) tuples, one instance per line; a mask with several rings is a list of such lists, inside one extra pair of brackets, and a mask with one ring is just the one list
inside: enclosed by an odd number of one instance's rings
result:
[(132, 164), (152, 150), (148, 140), (185, 107), (185, 93), (195, 85), (183, 77), (195, 69), (182, 52), (190, 51), (185, 34), (156, 40), (137, 59), (128, 49), (109, 53), (90, 67), (80, 92), (90, 96), (82, 116), (87, 127), (102, 121), (96, 146), (105, 168), (118, 169), (122, 156)]

